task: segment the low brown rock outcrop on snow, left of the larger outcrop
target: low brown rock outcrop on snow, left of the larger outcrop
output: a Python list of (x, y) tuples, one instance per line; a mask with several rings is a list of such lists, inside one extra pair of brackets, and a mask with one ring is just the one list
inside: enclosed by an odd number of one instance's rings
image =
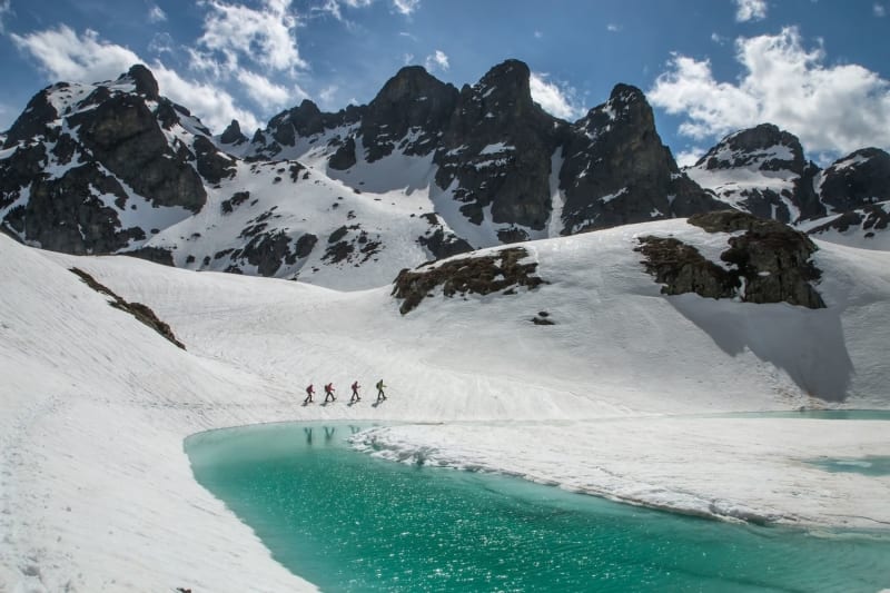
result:
[(393, 283), (393, 296), (404, 299), (398, 310), (405, 315), (438, 286), (447, 297), (467, 293), (488, 295), (516, 286), (533, 289), (545, 280), (533, 276), (537, 264), (521, 263), (526, 257), (528, 251), (524, 248), (508, 247), (491, 256), (464, 257), (416, 270), (403, 269)]

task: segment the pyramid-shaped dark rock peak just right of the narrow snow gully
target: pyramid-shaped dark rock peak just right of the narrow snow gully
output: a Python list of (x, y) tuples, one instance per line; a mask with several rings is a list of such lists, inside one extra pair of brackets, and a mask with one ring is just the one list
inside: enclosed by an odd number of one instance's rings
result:
[(635, 87), (617, 85), (575, 122), (563, 158), (563, 235), (722, 207), (680, 172)]

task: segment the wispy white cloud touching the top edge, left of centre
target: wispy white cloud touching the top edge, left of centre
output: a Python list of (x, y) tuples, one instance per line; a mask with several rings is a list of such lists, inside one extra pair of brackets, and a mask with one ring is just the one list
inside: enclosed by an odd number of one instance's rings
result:
[(259, 9), (233, 4), (224, 0), (206, 0), (209, 8), (204, 19), (204, 34), (198, 45), (212, 55), (224, 57), (222, 67), (234, 71), (239, 59), (273, 70), (306, 68), (299, 57), (294, 31), (297, 18), (290, 0), (263, 0)]

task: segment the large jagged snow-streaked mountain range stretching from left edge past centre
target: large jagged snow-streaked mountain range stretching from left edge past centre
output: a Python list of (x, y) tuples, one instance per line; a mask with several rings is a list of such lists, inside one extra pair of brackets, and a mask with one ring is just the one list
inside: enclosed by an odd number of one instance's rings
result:
[(515, 60), (459, 91), (404, 68), (367, 106), (304, 101), (249, 140), (237, 122), (211, 137), (135, 66), (44, 89), (2, 140), (0, 220), (30, 245), (342, 288), (720, 206), (679, 171), (637, 89), (570, 125)]

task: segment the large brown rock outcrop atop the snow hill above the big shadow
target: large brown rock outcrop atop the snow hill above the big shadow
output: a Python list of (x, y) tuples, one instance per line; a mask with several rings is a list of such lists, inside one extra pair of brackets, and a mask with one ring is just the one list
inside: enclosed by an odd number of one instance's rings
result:
[(646, 256), (646, 271), (665, 284), (662, 293), (736, 296), (745, 303), (789, 303), (811, 309), (825, 306), (810, 285), (821, 273), (810, 260), (817, 247), (807, 235), (738, 210), (695, 215), (689, 223), (708, 233), (745, 231), (730, 237), (729, 249), (720, 256), (734, 268), (706, 261), (676, 239), (645, 237), (637, 250)]

